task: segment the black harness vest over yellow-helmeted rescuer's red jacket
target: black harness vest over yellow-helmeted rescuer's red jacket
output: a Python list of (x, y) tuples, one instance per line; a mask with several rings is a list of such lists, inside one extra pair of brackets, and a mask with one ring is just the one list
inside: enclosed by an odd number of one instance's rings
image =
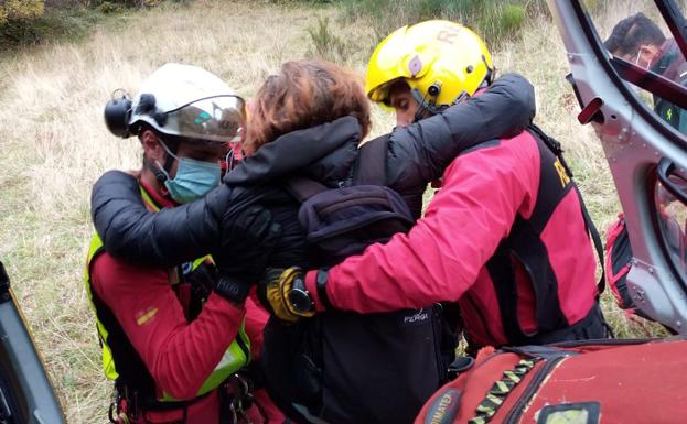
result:
[[(572, 181), (572, 172), (562, 156), (560, 143), (534, 124), (528, 128), (528, 132), (536, 140), (540, 154), (537, 204), (529, 218), (516, 216), (508, 237), (502, 240), (486, 263), (498, 300), (504, 333), (508, 344), (518, 346), (543, 343), (541, 337), (550, 334), (563, 337), (567, 333), (573, 333), (582, 326), (590, 325), (593, 319), (600, 316), (595, 309), (598, 305), (594, 305), (589, 316), (572, 326), (569, 325), (558, 298), (558, 280), (551, 267), (546, 244), (540, 237), (556, 208), (570, 191), (577, 193), (587, 231), (593, 241), (600, 263), (603, 264), (601, 237), (587, 211), (577, 185)], [(476, 149), (492, 146), (494, 142), (498, 141), (485, 142), (477, 145)], [(535, 291), (537, 334), (534, 336), (526, 335), (518, 324), (518, 296), (514, 260), (527, 271)], [(603, 292), (604, 286), (605, 275), (602, 272), (598, 282), (599, 294)]]

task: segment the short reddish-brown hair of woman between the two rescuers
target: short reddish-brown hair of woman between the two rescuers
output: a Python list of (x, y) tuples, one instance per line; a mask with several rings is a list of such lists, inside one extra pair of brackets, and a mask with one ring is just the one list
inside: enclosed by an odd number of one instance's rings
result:
[(361, 77), (324, 61), (294, 61), (267, 78), (254, 99), (244, 148), (255, 152), (262, 144), (291, 131), (337, 118), (355, 117), (369, 130), (369, 100)]

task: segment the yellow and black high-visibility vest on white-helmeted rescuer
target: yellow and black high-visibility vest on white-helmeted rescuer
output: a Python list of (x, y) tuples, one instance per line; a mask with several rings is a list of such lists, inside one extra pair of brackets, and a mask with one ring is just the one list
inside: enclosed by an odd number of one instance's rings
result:
[[(143, 187), (141, 187), (141, 197), (149, 209), (160, 210), (160, 206)], [(244, 323), (224, 358), (202, 384), (194, 399), (180, 401), (168, 394), (158, 398), (154, 379), (143, 360), (129, 341), (115, 314), (92, 287), (90, 268), (95, 259), (104, 252), (105, 248), (100, 238), (97, 235), (94, 236), (86, 264), (85, 285), (90, 306), (96, 315), (98, 338), (103, 348), (104, 371), (109, 380), (115, 381), (115, 394), (108, 413), (110, 422), (138, 422), (144, 412), (181, 410), (183, 412), (182, 423), (185, 423), (189, 406), (205, 399), (215, 389), (218, 390), (221, 400), (221, 424), (247, 422), (245, 410), (253, 404), (253, 384), (246, 376), (239, 373), (239, 370), (250, 360), (250, 343)], [(205, 257), (178, 268), (176, 274), (179, 283), (173, 286), (178, 295), (183, 285), (191, 286), (186, 316), (193, 320), (210, 295), (210, 290), (205, 287), (212, 286), (216, 269), (212, 258)], [(259, 406), (258, 409), (266, 417), (264, 411)]]

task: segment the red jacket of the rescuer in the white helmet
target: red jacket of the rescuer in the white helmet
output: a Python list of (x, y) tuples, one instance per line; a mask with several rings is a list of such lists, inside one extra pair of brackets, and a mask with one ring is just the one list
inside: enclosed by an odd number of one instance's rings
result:
[[(174, 206), (157, 196), (154, 191), (147, 192), (161, 207)], [(189, 400), (195, 398), (227, 346), (237, 337), (244, 317), (246, 333), (254, 341), (253, 357), (258, 357), (268, 314), (251, 297), (245, 307), (239, 307), (211, 293), (197, 317), (190, 320), (189, 296), (175, 293), (169, 282), (169, 272), (130, 264), (103, 252), (92, 263), (92, 287), (135, 350), (127, 354), (128, 358), (142, 362), (155, 384), (157, 394), (164, 391), (176, 399)], [(270, 424), (283, 421), (283, 414), (265, 390), (257, 391), (255, 396)], [(262, 422), (261, 413), (255, 406), (247, 414), (254, 422)], [(187, 424), (218, 423), (217, 389), (190, 403), (186, 412), (182, 409), (142, 410), (131, 422), (173, 423), (182, 420)]]

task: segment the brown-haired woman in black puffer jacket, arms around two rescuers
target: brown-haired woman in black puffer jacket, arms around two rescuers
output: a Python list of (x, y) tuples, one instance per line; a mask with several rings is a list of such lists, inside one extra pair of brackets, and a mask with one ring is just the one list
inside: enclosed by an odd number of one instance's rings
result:
[[(400, 194), (409, 215), (417, 219), (428, 182), (441, 177), (463, 150), (520, 132), (534, 110), (529, 83), (506, 75), (481, 96), (396, 128), (361, 148), (371, 120), (359, 78), (326, 62), (288, 62), (256, 95), (244, 140), (248, 155), (225, 175), (224, 185), (202, 200), (150, 214), (140, 204), (136, 181), (112, 171), (94, 186), (94, 222), (110, 254), (178, 264), (217, 248), (240, 249), (223, 244), (223, 228), (237, 211), (259, 204), (270, 210), (282, 231), (269, 267), (316, 268), (322, 265), (321, 258), (308, 250), (298, 217), (301, 204), (288, 182), (300, 177), (328, 188), (350, 187), (362, 173), (382, 170), (384, 185)], [(365, 150), (382, 151), (379, 163), (361, 160)], [(351, 355), (332, 349), (341, 346), (336, 337), (351, 335), (337, 333), (342, 327), (332, 331), (328, 320), (339, 319), (345, 326), (352, 319), (348, 316), (297, 325), (271, 319), (265, 329), (259, 369), (264, 383), (299, 422), (411, 422), (441, 384), (447, 365), (439, 352), (433, 311), (401, 314), (387, 317), (383, 326), (345, 327), (359, 331), (346, 340), (355, 340), (356, 335), (361, 340), (376, 338), (375, 346), (384, 349), (372, 351), (361, 341), (348, 346)], [(261, 329), (257, 327), (253, 330)]]

